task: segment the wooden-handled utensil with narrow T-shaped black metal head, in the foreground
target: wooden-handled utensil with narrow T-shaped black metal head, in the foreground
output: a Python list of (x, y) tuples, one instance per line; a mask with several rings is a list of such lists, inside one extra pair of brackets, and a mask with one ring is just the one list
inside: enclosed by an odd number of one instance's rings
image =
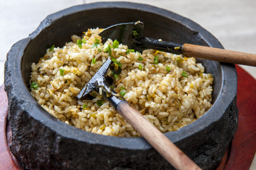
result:
[[(182, 150), (174, 145), (160, 130), (146, 120), (140, 112), (130, 106), (128, 102), (116, 94), (116, 91), (106, 83), (106, 73), (111, 65), (111, 59), (106, 60), (99, 70), (91, 77), (90, 81), (77, 95), (81, 99), (89, 95), (91, 91), (102, 94), (116, 111), (135, 128), (140, 135), (147, 140), (162, 157), (164, 157), (176, 169), (201, 169)], [(101, 92), (100, 92), (101, 91)]]

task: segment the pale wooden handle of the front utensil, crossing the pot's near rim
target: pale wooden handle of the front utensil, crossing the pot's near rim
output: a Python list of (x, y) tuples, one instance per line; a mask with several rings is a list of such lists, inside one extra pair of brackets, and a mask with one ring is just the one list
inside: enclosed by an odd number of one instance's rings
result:
[(125, 101), (121, 101), (116, 111), (125, 118), (147, 140), (162, 157), (164, 157), (176, 169), (201, 169), (184, 152), (176, 147), (154, 125), (143, 118), (135, 108)]

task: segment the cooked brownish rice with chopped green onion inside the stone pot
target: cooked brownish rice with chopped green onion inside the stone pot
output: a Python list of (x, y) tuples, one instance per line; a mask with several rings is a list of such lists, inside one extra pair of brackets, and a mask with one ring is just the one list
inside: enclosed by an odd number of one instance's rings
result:
[[(93, 92), (92, 100), (76, 99), (80, 89), (109, 57), (104, 47), (113, 41), (101, 44), (100, 31), (96, 28), (84, 33), (82, 38), (86, 42), (81, 44), (82, 48), (77, 45), (81, 37), (72, 35), (72, 42), (64, 47), (48, 49), (38, 64), (32, 64), (30, 83), (39, 87), (31, 88), (31, 94), (46, 111), (69, 125), (102, 135), (139, 136), (101, 95)], [(96, 39), (99, 45), (93, 45)], [(145, 50), (143, 54), (127, 50), (121, 44), (111, 49), (112, 57), (122, 64), (114, 90), (126, 92), (126, 101), (159, 130), (178, 130), (211, 107), (213, 78), (204, 73), (204, 66), (193, 57), (156, 50)], [(154, 64), (156, 56), (159, 62)], [(91, 64), (94, 59), (95, 64)], [(113, 77), (110, 71), (108, 75)]]

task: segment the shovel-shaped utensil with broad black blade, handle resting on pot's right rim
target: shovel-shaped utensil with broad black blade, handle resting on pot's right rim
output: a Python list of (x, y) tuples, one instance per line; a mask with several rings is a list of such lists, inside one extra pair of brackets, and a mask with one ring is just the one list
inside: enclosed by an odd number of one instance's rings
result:
[(99, 35), (103, 43), (110, 38), (111, 40), (118, 40), (123, 45), (127, 45), (129, 48), (139, 52), (146, 49), (154, 49), (177, 55), (182, 54), (187, 57), (256, 66), (256, 55), (254, 54), (147, 38), (144, 36), (144, 24), (140, 21), (136, 23), (119, 23), (110, 26), (104, 29)]

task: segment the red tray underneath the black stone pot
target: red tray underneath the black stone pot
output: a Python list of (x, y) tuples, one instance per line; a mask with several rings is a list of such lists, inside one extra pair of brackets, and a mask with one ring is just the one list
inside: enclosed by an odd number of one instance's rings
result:
[[(238, 72), (238, 130), (218, 170), (250, 168), (256, 151), (256, 80), (236, 65)], [(0, 169), (20, 169), (6, 141), (7, 96), (0, 86)]]

